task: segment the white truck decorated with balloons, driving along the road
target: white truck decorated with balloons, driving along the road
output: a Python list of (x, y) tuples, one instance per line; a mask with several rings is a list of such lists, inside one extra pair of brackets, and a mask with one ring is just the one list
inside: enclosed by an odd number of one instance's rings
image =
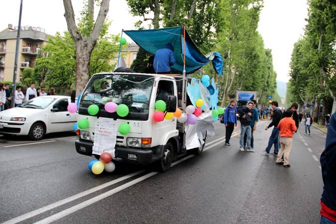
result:
[[(198, 117), (197, 124), (189, 127), (186, 123), (177, 122), (175, 117), (160, 122), (153, 120), (158, 89), (168, 93), (167, 112), (175, 112), (177, 107), (183, 111), (191, 104), (186, 93), (188, 82), (190, 78), (184, 76), (116, 72), (95, 74), (85, 87), (79, 103), (78, 119), (87, 118), (89, 127), (80, 129), (75, 142), (77, 152), (99, 158), (99, 154), (93, 154), (95, 125), (98, 119), (104, 117), (114, 120), (116, 126), (124, 122), (130, 125), (126, 135), (116, 131), (116, 142), (112, 145), (115, 161), (156, 163), (160, 171), (166, 171), (173, 161), (187, 153), (190, 145), (198, 146), (192, 151), (201, 154), (207, 132), (214, 130), (211, 112), (203, 113)], [(106, 112), (104, 104), (109, 101), (127, 105), (129, 113), (120, 117), (116, 112)], [(92, 104), (99, 106), (96, 115), (88, 113)], [(196, 144), (195, 139), (198, 140)], [(188, 141), (192, 141), (189, 147)]]

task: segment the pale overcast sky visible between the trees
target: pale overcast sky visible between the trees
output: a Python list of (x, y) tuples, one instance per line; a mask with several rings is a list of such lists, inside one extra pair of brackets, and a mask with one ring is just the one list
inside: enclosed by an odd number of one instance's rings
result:
[[(8, 23), (17, 26), (19, 5), (19, 0), (2, 2), (0, 30), (5, 29)], [(82, 0), (73, 0), (73, 7), (78, 18)], [(307, 8), (307, 0), (264, 0), (258, 31), (264, 39), (265, 47), (272, 49), (273, 65), (278, 80), (289, 80), (293, 44), (304, 33)], [(62, 33), (67, 30), (63, 14), (62, 0), (23, 0), (21, 25), (44, 27), (46, 33), (52, 35), (57, 31)], [(134, 22), (138, 20), (128, 12), (125, 0), (112, 0), (108, 16), (112, 20), (111, 34), (120, 33), (121, 29), (133, 29)]]

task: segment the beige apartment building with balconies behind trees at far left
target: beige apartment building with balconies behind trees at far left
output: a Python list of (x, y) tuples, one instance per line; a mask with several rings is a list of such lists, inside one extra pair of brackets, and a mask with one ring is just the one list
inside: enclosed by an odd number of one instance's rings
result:
[[(0, 32), (0, 81), (13, 81), (17, 27), (8, 24)], [(20, 82), (23, 69), (32, 68), (41, 47), (46, 44), (48, 37), (44, 28), (22, 26), (18, 49), (16, 82)]]

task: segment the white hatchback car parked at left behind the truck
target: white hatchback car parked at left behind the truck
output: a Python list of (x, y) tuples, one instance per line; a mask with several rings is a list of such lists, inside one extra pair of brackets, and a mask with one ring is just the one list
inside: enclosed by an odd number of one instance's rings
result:
[(73, 131), (77, 112), (68, 112), (70, 103), (70, 97), (43, 96), (2, 111), (0, 133), (28, 135), (32, 140), (40, 140), (47, 133)]

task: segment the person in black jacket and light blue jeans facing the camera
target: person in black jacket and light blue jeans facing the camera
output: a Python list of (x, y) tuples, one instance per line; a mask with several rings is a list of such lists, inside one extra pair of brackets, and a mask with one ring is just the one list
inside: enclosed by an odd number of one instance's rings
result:
[(240, 151), (244, 151), (244, 134), (246, 132), (246, 151), (253, 152), (251, 149), (251, 120), (252, 120), (252, 111), (253, 103), (249, 102), (247, 107), (243, 107), (242, 110), (239, 111), (239, 118), (240, 118)]

